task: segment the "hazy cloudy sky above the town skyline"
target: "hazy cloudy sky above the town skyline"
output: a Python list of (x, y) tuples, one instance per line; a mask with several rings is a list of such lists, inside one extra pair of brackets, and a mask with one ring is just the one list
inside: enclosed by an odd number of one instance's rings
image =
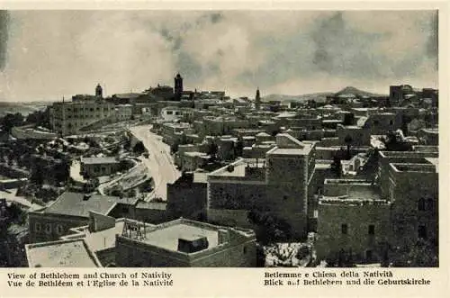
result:
[(0, 100), (173, 86), (299, 95), (437, 87), (437, 12), (0, 12)]

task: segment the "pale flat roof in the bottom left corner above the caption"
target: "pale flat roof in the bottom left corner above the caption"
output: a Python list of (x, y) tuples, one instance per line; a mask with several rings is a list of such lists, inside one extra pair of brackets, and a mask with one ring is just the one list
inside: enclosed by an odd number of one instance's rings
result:
[(25, 246), (30, 267), (100, 266), (83, 239), (59, 240)]

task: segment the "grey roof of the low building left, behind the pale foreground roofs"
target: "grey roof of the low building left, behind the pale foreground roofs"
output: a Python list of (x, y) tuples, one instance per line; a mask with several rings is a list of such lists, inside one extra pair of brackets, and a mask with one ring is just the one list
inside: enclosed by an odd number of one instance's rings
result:
[[(66, 192), (43, 212), (61, 215), (89, 217), (89, 211), (106, 214), (116, 203), (135, 203), (137, 199), (121, 199), (118, 196), (92, 194), (84, 200), (85, 194)], [(127, 201), (129, 200), (129, 201)]]

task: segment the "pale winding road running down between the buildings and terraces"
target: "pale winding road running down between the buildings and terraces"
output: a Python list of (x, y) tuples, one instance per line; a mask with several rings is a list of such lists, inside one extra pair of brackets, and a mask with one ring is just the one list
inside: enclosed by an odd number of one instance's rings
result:
[(155, 189), (148, 195), (147, 200), (160, 197), (167, 199), (167, 183), (174, 183), (181, 176), (170, 155), (170, 148), (163, 143), (162, 137), (150, 131), (151, 125), (130, 127), (131, 133), (142, 141), (148, 149), (148, 158), (142, 158), (144, 164), (155, 182)]

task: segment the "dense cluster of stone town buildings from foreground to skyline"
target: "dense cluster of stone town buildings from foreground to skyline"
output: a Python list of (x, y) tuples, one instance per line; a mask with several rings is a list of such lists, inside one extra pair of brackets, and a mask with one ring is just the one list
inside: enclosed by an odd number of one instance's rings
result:
[[(340, 92), (311, 106), (174, 80), (109, 97), (96, 86), (51, 106), (63, 137), (149, 119), (183, 175), (166, 202), (93, 187), (29, 212), (29, 266), (257, 266), (259, 245), (307, 241), (316, 261), (344, 266), (437, 248), (437, 90)], [(120, 160), (80, 158), (79, 174), (113, 176)]]

